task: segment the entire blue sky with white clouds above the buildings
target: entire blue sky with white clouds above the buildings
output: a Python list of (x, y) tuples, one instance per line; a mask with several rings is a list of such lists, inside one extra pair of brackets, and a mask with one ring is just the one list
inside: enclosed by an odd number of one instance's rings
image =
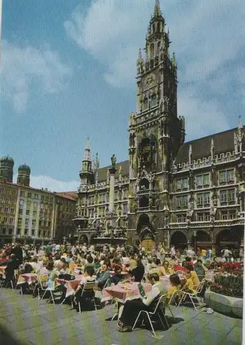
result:
[[(76, 190), (86, 137), (100, 166), (127, 159), (136, 59), (155, 0), (3, 0), (0, 155), (31, 185)], [(160, 0), (187, 140), (244, 120), (243, 0)], [(183, 5), (184, 3), (184, 5)]]

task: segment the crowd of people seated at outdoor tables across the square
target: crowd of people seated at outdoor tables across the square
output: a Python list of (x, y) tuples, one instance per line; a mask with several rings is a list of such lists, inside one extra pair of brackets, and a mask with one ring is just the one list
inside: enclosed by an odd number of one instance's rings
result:
[[(228, 259), (226, 255), (227, 253), (224, 253), (224, 260)], [(8, 282), (13, 280), (16, 270), (19, 275), (24, 273), (47, 275), (47, 284), (53, 287), (58, 277), (83, 275), (72, 295), (71, 302), (74, 306), (83, 302), (81, 289), (85, 282), (96, 282), (97, 288), (103, 290), (105, 284), (111, 286), (125, 281), (125, 272), (134, 282), (142, 282), (142, 279), (147, 277), (147, 281), (153, 286), (151, 294), (140, 300), (127, 301), (124, 305), (119, 331), (126, 332), (131, 331), (138, 311), (149, 308), (151, 302), (160, 294), (161, 277), (165, 275), (169, 277), (170, 286), (167, 293), (167, 301), (169, 301), (175, 291), (180, 291), (180, 294), (176, 294), (177, 297), (180, 297), (181, 291), (193, 292), (205, 278), (206, 271), (219, 270), (220, 262), (213, 257), (211, 250), (197, 248), (196, 253), (193, 249), (180, 253), (175, 246), (165, 250), (161, 244), (158, 248), (147, 251), (140, 246), (49, 243), (47, 246), (37, 245), (34, 248), (17, 243), (0, 250), (0, 266), (6, 266), (3, 286), (7, 286)], [(180, 273), (184, 276), (182, 282)], [(60, 284), (56, 288), (61, 291), (62, 302), (65, 299), (66, 287)], [(22, 285), (22, 293), (32, 293), (36, 296), (36, 291), (34, 284)]]

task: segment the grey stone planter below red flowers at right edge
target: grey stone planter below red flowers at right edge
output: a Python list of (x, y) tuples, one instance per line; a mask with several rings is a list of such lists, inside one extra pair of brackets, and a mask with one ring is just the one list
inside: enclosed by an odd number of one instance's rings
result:
[(214, 311), (242, 318), (242, 298), (224, 296), (219, 293), (213, 293), (211, 290), (206, 290), (205, 302)]

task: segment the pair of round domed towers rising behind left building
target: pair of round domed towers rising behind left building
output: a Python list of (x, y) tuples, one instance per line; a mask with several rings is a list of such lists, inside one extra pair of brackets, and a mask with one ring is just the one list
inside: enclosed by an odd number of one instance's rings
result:
[[(26, 164), (19, 166), (17, 184), (30, 186), (30, 167)], [(14, 159), (10, 156), (4, 156), (0, 159), (0, 180), (13, 182)]]

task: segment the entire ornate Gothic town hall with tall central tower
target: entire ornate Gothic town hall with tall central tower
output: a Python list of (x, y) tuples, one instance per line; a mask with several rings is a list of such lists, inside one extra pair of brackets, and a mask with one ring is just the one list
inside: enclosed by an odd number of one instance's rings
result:
[(137, 61), (137, 112), (129, 115), (129, 160), (99, 168), (89, 141), (80, 172), (76, 236), (113, 236), (149, 248), (162, 242), (213, 249), (243, 245), (244, 128), (184, 142), (177, 65), (154, 8)]

